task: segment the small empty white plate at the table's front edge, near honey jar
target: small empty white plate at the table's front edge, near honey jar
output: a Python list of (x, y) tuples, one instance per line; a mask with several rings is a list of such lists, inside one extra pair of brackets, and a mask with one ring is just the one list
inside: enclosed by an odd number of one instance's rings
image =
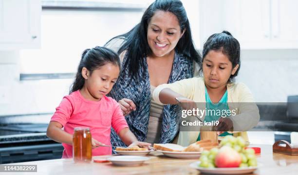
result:
[(112, 156), (107, 160), (118, 166), (139, 166), (149, 159), (143, 156)]

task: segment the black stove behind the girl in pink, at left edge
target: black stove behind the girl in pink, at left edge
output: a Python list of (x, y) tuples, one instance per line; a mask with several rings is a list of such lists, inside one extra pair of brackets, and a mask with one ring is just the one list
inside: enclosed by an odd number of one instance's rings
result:
[(48, 124), (0, 125), (0, 164), (60, 159), (63, 146), (46, 136)]

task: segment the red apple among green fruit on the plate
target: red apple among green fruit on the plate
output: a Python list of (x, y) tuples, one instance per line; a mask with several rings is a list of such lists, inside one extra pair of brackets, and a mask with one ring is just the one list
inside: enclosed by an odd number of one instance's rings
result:
[(239, 167), (240, 154), (229, 146), (223, 146), (215, 157), (215, 166), (218, 168)]

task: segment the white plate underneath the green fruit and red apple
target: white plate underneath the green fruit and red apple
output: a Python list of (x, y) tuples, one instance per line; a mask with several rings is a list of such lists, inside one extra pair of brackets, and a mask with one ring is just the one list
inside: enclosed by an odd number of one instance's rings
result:
[(243, 168), (204, 168), (199, 167), (200, 161), (191, 163), (191, 168), (199, 170), (202, 174), (216, 174), (216, 175), (235, 175), (235, 174), (248, 174), (257, 170), (259, 166), (243, 167)]

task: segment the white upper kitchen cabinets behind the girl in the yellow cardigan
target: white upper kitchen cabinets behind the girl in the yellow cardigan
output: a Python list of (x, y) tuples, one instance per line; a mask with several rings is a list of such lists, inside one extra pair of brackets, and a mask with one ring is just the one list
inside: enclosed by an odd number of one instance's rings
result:
[(244, 49), (298, 48), (297, 0), (212, 0), (212, 10), (200, 3), (202, 43), (227, 30)]

